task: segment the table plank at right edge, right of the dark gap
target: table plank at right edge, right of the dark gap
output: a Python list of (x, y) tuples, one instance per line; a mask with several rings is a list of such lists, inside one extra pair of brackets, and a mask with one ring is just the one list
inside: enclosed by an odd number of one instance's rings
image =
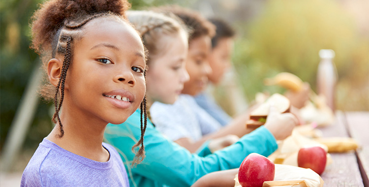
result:
[(362, 167), (363, 182), (369, 186), (369, 112), (345, 112), (345, 117), (348, 132), (361, 146), (357, 156)]

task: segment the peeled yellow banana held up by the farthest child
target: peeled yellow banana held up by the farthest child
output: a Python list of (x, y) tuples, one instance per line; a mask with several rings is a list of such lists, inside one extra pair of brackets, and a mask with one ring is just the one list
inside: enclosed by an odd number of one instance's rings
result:
[(264, 79), (264, 84), (267, 86), (278, 85), (285, 89), (298, 92), (303, 88), (304, 82), (292, 73), (281, 72), (273, 78)]

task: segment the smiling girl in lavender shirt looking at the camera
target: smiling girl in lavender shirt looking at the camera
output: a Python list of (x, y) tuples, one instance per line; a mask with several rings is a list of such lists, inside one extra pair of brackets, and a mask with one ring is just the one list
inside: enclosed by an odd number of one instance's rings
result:
[[(145, 50), (123, 17), (126, 0), (50, 0), (34, 13), (32, 48), (54, 99), (56, 123), (23, 172), (21, 187), (129, 187), (118, 152), (102, 143), (145, 95)], [(58, 105), (59, 102), (59, 105)]]

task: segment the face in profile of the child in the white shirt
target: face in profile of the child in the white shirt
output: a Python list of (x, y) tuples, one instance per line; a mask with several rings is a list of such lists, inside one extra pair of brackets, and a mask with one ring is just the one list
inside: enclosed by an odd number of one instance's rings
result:
[(211, 44), (211, 38), (206, 35), (194, 38), (189, 42), (186, 61), (189, 81), (184, 83), (183, 94), (196, 95), (205, 89), (208, 75), (212, 72), (208, 61)]

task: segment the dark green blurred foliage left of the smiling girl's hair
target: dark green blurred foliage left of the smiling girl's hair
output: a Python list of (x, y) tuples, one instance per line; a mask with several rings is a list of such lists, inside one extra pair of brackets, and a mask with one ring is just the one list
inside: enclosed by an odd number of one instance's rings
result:
[[(2, 148), (6, 134), (9, 130), (19, 100), (27, 86), (28, 80), (35, 65), (38, 63), (37, 54), (29, 48), (30, 27), (29, 19), (37, 4), (41, 0), (7, 0), (1, 1), (0, 17), (0, 146)], [(32, 123), (31, 138), (27, 138), (27, 145), (36, 146), (45, 133), (39, 133), (36, 125), (40, 121), (47, 121), (43, 129), (50, 131), (50, 118), (47, 116), (49, 106), (40, 103), (35, 120)], [(45, 124), (45, 123), (44, 123)]]

